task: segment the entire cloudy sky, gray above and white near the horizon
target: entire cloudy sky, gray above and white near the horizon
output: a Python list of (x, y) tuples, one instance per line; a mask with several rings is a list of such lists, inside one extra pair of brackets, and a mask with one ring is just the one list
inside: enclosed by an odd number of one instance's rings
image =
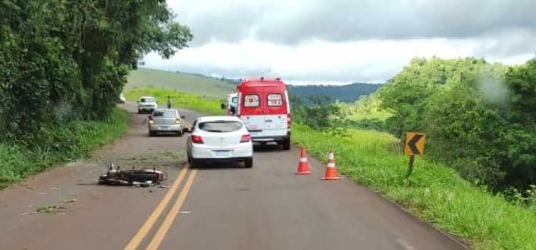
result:
[(294, 83), (382, 82), (414, 56), (535, 56), (536, 0), (168, 0), (194, 40), (146, 66)]

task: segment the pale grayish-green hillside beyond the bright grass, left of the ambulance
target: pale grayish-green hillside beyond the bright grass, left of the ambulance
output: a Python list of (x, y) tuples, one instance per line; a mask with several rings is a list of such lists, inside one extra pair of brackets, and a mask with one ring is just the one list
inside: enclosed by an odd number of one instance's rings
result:
[(161, 71), (157, 69), (137, 69), (130, 71), (125, 89), (156, 88), (197, 94), (212, 98), (227, 97), (236, 86), (229, 81), (220, 81), (207, 76)]

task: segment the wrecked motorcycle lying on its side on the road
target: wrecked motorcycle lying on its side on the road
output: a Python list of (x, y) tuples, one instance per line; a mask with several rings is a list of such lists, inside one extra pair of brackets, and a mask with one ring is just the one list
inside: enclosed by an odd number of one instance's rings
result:
[(121, 170), (120, 166), (110, 164), (106, 174), (99, 177), (99, 184), (118, 186), (154, 186), (167, 180), (167, 173), (153, 169)]

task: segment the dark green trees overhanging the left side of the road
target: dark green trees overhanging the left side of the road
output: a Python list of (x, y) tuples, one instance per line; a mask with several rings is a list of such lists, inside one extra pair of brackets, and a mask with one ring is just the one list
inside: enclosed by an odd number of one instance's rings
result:
[(105, 119), (128, 69), (192, 34), (164, 0), (0, 1), (0, 141), (51, 143), (71, 119)]

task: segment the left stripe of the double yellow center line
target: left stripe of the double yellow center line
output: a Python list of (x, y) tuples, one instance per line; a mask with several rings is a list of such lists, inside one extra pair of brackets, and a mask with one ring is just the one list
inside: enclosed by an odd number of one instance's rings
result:
[(179, 177), (174, 181), (171, 187), (169, 187), (169, 191), (167, 191), (167, 194), (164, 196), (162, 201), (158, 204), (157, 208), (154, 209), (152, 214), (147, 218), (147, 221), (143, 224), (142, 228), (139, 229), (136, 235), (132, 237), (129, 244), (126, 244), (124, 250), (136, 250), (136, 248), (139, 246), (139, 244), (142, 242), (142, 240), (147, 236), (149, 233), (149, 230), (151, 230), (152, 226), (154, 225), (154, 222), (157, 221), (160, 214), (162, 214), (162, 211), (166, 208), (167, 204), (169, 204), (169, 201), (172, 199), (173, 195), (179, 189), (179, 186), (182, 182), (182, 179), (184, 179), (184, 176), (186, 176), (186, 173), (188, 171), (187, 167), (184, 167), (182, 171), (179, 174)]

